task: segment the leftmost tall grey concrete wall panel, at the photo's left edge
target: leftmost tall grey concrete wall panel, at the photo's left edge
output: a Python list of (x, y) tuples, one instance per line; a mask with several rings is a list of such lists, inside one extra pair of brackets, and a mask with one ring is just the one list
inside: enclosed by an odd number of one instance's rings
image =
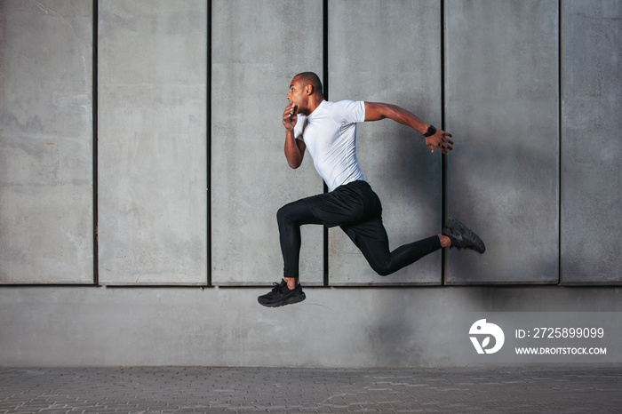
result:
[(0, 28), (0, 283), (92, 283), (92, 1), (4, 0)]

